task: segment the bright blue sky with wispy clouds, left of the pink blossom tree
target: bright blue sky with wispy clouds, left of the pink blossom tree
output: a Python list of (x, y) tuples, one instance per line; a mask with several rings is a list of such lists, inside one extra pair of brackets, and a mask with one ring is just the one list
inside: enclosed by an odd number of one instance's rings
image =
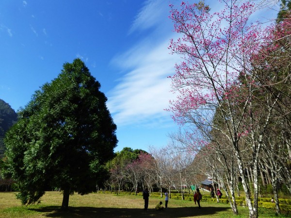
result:
[(173, 99), (167, 77), (180, 61), (167, 49), (177, 37), (170, 3), (180, 1), (1, 0), (0, 99), (25, 107), (65, 62), (80, 58), (108, 97), (115, 151), (166, 146), (177, 129), (164, 110)]

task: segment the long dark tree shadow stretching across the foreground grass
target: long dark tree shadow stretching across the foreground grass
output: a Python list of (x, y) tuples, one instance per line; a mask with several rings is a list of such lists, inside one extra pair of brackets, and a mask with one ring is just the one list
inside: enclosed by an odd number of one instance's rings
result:
[(195, 216), (211, 216), (221, 211), (226, 211), (225, 207), (177, 207), (167, 208), (163, 211), (155, 209), (134, 209), (134, 208), (98, 208), (98, 207), (69, 207), (68, 210), (61, 210), (57, 206), (48, 206), (38, 209), (30, 209), (42, 213), (44, 217), (51, 218), (185, 218)]

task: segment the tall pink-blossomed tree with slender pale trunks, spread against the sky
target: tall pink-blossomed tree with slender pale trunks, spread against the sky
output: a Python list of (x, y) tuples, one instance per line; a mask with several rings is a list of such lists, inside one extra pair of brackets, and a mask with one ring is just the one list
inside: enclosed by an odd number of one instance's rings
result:
[[(228, 140), (242, 178), (249, 216), (255, 218), (258, 217), (262, 133), (269, 125), (272, 110), (254, 119), (253, 110), (258, 106), (253, 100), (258, 85), (253, 74), (253, 58), (270, 43), (265, 41), (270, 29), (249, 23), (249, 17), (256, 10), (254, 1), (221, 2), (225, 8), (212, 14), (203, 1), (193, 5), (182, 2), (179, 8), (170, 5), (174, 29), (180, 38), (171, 40), (169, 48), (183, 59), (171, 77), (177, 98), (170, 102), (170, 110), (178, 124), (190, 125), (197, 132), (215, 129)], [(213, 123), (215, 114), (221, 118), (219, 125)], [(249, 164), (253, 167), (254, 202), (244, 173), (244, 149), (240, 143), (247, 136), (252, 156)], [(209, 138), (204, 140), (204, 144), (210, 142)]]

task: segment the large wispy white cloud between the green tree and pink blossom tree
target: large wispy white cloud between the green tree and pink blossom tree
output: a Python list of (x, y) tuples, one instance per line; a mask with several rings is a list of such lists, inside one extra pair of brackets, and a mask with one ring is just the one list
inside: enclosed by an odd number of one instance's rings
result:
[[(167, 49), (172, 28), (163, 31), (167, 29), (165, 23), (168, 23), (165, 21), (168, 11), (165, 1), (146, 1), (129, 32), (148, 28), (151, 31), (144, 34), (143, 40), (112, 60), (112, 64), (126, 72), (108, 93), (107, 106), (117, 126), (157, 126), (171, 122), (170, 114), (164, 110), (173, 98), (170, 93), (171, 80), (167, 76), (174, 73), (177, 59)], [(148, 19), (150, 17), (154, 18)]]

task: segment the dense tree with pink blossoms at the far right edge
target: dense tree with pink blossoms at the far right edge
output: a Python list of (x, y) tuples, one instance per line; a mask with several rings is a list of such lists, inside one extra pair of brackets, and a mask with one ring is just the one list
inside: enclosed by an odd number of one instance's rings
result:
[[(278, 181), (284, 181), (291, 193), (291, 174), (288, 162), (290, 155), (290, 101), (291, 101), (291, 17), (269, 27), (265, 40), (269, 43), (261, 47), (253, 56), (253, 66), (263, 97), (260, 110), (268, 111), (271, 125), (264, 130), (262, 137), (264, 146), (260, 158), (266, 173), (271, 173), (276, 213), (280, 214), (278, 201)], [(270, 113), (271, 112), (271, 113)], [(263, 125), (261, 125), (263, 126)], [(288, 154), (287, 152), (288, 151)], [(284, 169), (284, 170), (283, 170)]]

